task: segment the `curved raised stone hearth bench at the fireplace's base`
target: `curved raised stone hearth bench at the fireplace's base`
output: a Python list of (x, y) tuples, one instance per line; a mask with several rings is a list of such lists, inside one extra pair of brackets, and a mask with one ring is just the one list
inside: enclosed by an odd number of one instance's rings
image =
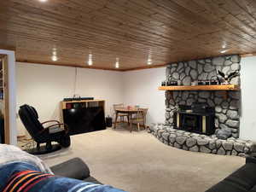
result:
[(218, 139), (215, 135), (205, 136), (188, 131), (173, 129), (169, 125), (150, 125), (148, 132), (157, 137), (161, 143), (183, 150), (207, 154), (226, 154), (245, 157), (255, 153), (256, 144), (230, 137)]

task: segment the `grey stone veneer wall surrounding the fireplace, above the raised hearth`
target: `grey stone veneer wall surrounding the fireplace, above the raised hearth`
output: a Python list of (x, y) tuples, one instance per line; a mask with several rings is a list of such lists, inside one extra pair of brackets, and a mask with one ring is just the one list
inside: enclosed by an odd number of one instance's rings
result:
[[(166, 79), (171, 75), (173, 80), (179, 80), (183, 85), (201, 79), (212, 79), (218, 75), (218, 70), (225, 74), (240, 71), (239, 55), (225, 55), (196, 61), (172, 63), (166, 67)], [(240, 84), (240, 76), (232, 79), (231, 84)], [(166, 125), (173, 125), (173, 113), (178, 104), (191, 105), (193, 102), (207, 102), (215, 107), (216, 129), (227, 128), (232, 131), (232, 137), (239, 137), (241, 92), (229, 91), (224, 99), (222, 91), (166, 91)]]

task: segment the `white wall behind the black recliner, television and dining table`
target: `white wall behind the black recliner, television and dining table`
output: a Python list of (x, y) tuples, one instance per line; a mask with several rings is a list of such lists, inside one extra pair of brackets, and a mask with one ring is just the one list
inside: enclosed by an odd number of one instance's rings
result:
[[(74, 67), (17, 62), (17, 108), (30, 104), (38, 110), (40, 121), (60, 119), (60, 102), (76, 93), (106, 100), (107, 115), (113, 114), (114, 103), (138, 104), (149, 108), (148, 124), (165, 121), (165, 92), (157, 90), (166, 78), (165, 67), (126, 73), (86, 68), (77, 70), (75, 80)], [(18, 130), (19, 135), (26, 134), (20, 119)]]

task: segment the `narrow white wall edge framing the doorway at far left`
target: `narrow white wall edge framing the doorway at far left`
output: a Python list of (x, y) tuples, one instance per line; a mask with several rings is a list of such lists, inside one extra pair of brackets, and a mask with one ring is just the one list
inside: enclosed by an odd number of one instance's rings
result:
[(16, 125), (15, 52), (11, 51), (11, 50), (0, 49), (0, 54), (8, 56), (10, 144), (16, 145), (16, 143), (17, 143), (17, 125)]

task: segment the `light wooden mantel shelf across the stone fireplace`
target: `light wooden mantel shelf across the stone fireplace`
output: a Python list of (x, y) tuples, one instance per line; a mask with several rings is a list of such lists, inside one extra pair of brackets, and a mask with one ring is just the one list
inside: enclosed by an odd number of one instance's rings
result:
[(238, 84), (160, 86), (158, 90), (240, 90)]

